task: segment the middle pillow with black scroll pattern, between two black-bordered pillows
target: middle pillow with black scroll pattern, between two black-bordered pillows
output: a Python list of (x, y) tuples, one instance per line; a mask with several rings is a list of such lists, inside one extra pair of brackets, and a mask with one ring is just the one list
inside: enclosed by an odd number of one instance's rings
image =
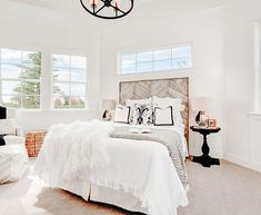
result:
[(153, 125), (153, 106), (149, 105), (138, 105), (133, 106), (132, 113), (132, 124), (133, 125)]

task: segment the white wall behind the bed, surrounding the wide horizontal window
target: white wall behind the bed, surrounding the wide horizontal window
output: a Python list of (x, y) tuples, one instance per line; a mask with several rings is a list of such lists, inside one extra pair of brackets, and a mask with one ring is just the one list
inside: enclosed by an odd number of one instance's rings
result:
[[(157, 13), (158, 14), (158, 13)], [(211, 8), (184, 16), (179, 12), (143, 13), (142, 19), (129, 19), (103, 30), (101, 37), (101, 97), (118, 98), (121, 80), (143, 80), (170, 77), (190, 78), (190, 97), (210, 96), (213, 107), (210, 117), (218, 118), (220, 134), (211, 135), (209, 144), (213, 156), (223, 156), (223, 32), (222, 9)], [(142, 51), (150, 48), (191, 42), (193, 65), (190, 70), (153, 72), (134, 76), (117, 74), (117, 56), (120, 52)], [(202, 137), (191, 134), (190, 153), (200, 154)]]

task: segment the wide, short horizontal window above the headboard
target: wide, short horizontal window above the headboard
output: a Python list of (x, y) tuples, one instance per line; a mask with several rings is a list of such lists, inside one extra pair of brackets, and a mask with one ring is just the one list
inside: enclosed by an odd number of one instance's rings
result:
[(120, 74), (171, 71), (192, 67), (191, 46), (123, 53), (119, 58)]

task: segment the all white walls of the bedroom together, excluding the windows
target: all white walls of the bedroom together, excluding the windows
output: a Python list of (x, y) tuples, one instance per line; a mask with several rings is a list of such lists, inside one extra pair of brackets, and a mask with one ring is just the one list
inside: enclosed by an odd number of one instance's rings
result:
[[(96, 25), (79, 25), (70, 17), (64, 21), (59, 14), (53, 22), (49, 14), (39, 20), (34, 10), (34, 19), (30, 19), (29, 14), (16, 17), (14, 12), (10, 16), (1, 11), (0, 47), (36, 49), (44, 56), (52, 52), (87, 55), (89, 59), (89, 110), (50, 108), (51, 91), (50, 85), (47, 85), (51, 80), (50, 59), (43, 58), (43, 109), (19, 111), (19, 124), (28, 130), (74, 119), (90, 119), (98, 116), (100, 97), (118, 98), (121, 80), (188, 76), (190, 97), (211, 96), (214, 101), (209, 115), (218, 118), (222, 131), (209, 137), (211, 154), (222, 157), (224, 153), (228, 160), (261, 170), (261, 115), (250, 114), (254, 90), (253, 23), (261, 20), (261, 2), (228, 0), (222, 8), (212, 7), (210, 1), (202, 3), (203, 9), (202, 4), (194, 3), (194, 8), (199, 6), (197, 10), (171, 9), (162, 13), (157, 12), (155, 8), (148, 10), (144, 4), (141, 9), (151, 13), (138, 8), (122, 20), (99, 21), (99, 28), (103, 27), (101, 35), (93, 32)], [(120, 52), (184, 42), (193, 46), (193, 69), (135, 76), (117, 74), (117, 56)], [(201, 136), (190, 135), (191, 154), (200, 154), (201, 143)]]

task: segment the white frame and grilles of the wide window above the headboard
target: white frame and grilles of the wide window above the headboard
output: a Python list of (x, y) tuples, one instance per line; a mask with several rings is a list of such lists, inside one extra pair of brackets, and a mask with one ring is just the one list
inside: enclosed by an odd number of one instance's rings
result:
[[(173, 60), (178, 59), (178, 58), (173, 58), (173, 49), (179, 48), (179, 47), (190, 47), (191, 48), (191, 67), (187, 67), (187, 68), (173, 68)], [(171, 58), (168, 59), (162, 59), (162, 60), (154, 60), (154, 52), (157, 51), (164, 51), (164, 50), (171, 50)], [(145, 75), (145, 74), (157, 74), (157, 72), (168, 72), (168, 71), (182, 71), (182, 70), (191, 70), (194, 68), (194, 55), (193, 55), (193, 43), (192, 42), (184, 42), (184, 43), (179, 43), (179, 45), (172, 45), (172, 46), (161, 46), (161, 47), (155, 47), (155, 48), (144, 48), (144, 49), (132, 49), (132, 50), (123, 50), (118, 52), (117, 56), (117, 74), (119, 76), (135, 76), (135, 75)], [(152, 52), (152, 61), (148, 61), (152, 63), (152, 70), (151, 71), (138, 71), (138, 65), (140, 62), (138, 62), (137, 57), (139, 53), (145, 53), (145, 52)], [(122, 72), (122, 60), (121, 57), (123, 55), (134, 55), (135, 56), (135, 61), (133, 63), (129, 63), (129, 65), (134, 65), (135, 67), (135, 71), (134, 72), (128, 72), (124, 74)], [(171, 69), (170, 70), (154, 70), (154, 62), (160, 62), (160, 61), (165, 61), (165, 60), (170, 60), (171, 61)], [(142, 61), (147, 62), (147, 61)], [(128, 63), (126, 63), (128, 65)]]

